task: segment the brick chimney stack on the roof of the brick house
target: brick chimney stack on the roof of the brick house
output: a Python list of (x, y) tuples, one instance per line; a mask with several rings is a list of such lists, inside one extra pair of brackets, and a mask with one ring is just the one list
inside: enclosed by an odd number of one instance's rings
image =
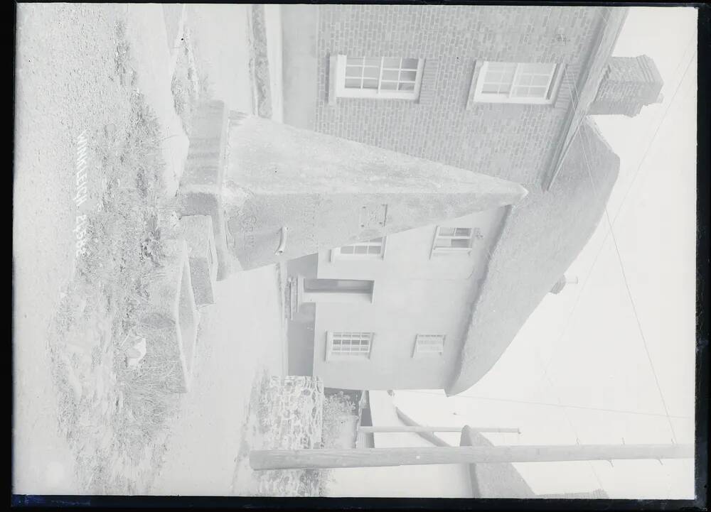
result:
[(661, 103), (663, 85), (654, 61), (647, 55), (611, 57), (588, 114), (634, 117), (645, 105)]

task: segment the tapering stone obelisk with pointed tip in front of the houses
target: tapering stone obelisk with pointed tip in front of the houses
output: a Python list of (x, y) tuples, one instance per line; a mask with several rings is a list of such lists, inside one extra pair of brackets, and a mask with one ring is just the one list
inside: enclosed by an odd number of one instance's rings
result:
[(204, 153), (224, 154), (224, 168), (188, 165), (180, 192), (189, 213), (218, 224), (222, 277), (237, 262), (286, 261), (526, 195), (510, 181), (256, 116), (233, 113), (228, 126), (226, 143), (213, 132), (215, 150)]

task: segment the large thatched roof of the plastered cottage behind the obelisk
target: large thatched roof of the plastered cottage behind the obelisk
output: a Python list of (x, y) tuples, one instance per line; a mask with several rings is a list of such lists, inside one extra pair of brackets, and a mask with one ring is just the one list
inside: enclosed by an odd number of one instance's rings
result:
[(459, 368), (445, 390), (461, 393), (486, 374), (601, 221), (619, 157), (586, 119), (547, 192), (513, 207), (488, 262)]

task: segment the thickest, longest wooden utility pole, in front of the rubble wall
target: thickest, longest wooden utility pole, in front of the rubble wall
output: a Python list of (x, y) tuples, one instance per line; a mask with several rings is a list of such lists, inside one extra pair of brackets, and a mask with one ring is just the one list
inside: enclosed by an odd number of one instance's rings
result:
[(693, 445), (519, 445), (360, 450), (252, 450), (252, 469), (319, 469), (486, 462), (562, 462), (611, 459), (687, 459)]

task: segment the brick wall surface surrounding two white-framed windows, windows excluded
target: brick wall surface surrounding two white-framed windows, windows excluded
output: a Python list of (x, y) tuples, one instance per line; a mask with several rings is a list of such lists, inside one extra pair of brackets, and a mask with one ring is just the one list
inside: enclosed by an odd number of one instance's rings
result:
[[(316, 131), (519, 183), (538, 183), (602, 8), (322, 5)], [(328, 105), (333, 54), (424, 58), (419, 101), (338, 98)], [(469, 104), (476, 62), (559, 62), (553, 105)]]

